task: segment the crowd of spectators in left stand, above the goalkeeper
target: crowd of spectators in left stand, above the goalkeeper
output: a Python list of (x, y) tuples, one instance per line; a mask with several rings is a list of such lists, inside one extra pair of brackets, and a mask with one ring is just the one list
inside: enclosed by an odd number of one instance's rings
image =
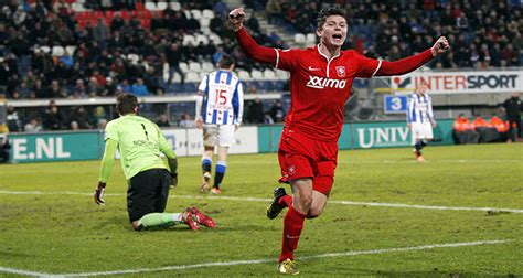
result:
[[(227, 8), (217, 0), (182, 0), (180, 10), (168, 6), (158, 12), (143, 9), (143, 1), (87, 1), (86, 8), (106, 15), (111, 7), (135, 9), (131, 15), (110, 10), (110, 22), (103, 15), (96, 24), (85, 21), (81, 17), (85, 12), (75, 12), (70, 2), (11, 0), (1, 7), (0, 94), (11, 99), (114, 96), (118, 92), (162, 95), (174, 82), (174, 73), (183, 83), (180, 62), (210, 62), (216, 52), (234, 53), (239, 67), (252, 67), (236, 50), (226, 22)], [(182, 44), (185, 34), (201, 32), (200, 22), (184, 12), (193, 9), (214, 9), (210, 30), (221, 38), (221, 44)], [(265, 38), (260, 40), (273, 43)], [(56, 45), (65, 49), (60, 56), (42, 51), (42, 46)], [(170, 67), (167, 83), (164, 63)]]

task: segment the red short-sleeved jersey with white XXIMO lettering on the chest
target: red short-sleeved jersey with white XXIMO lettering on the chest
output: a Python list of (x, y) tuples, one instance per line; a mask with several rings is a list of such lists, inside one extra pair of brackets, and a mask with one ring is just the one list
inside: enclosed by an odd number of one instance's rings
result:
[(318, 46), (276, 52), (275, 67), (290, 72), (291, 106), (286, 127), (318, 140), (337, 142), (354, 78), (372, 77), (381, 61), (355, 51), (341, 51), (328, 60)]

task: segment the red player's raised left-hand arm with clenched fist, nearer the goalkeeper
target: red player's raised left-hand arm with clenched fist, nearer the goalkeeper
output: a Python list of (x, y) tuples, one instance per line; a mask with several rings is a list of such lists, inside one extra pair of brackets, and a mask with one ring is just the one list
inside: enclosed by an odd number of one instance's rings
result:
[(228, 13), (228, 21), (234, 30), (234, 36), (238, 41), (239, 46), (253, 60), (262, 63), (271, 63), (276, 61), (276, 51), (271, 47), (260, 46), (256, 41), (245, 31), (243, 22), (245, 20), (245, 11), (243, 8), (236, 8)]

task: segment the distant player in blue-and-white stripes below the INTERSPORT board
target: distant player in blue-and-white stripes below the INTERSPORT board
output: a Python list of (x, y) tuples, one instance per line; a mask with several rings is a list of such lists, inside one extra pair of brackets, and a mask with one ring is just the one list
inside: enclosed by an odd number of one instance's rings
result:
[(412, 130), (414, 142), (414, 154), (420, 162), (425, 161), (421, 156), (421, 149), (427, 145), (427, 140), (433, 139), (433, 128), (436, 127), (436, 120), (433, 113), (433, 100), (426, 94), (426, 84), (420, 84), (412, 95), (408, 103), (407, 125)]

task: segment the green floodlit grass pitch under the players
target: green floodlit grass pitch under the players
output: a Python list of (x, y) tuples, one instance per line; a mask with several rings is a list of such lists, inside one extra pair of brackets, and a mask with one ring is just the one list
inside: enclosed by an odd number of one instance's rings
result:
[[(332, 201), (428, 207), (330, 203), (321, 217), (306, 222), (296, 254), (302, 275), (523, 276), (523, 145), (431, 147), (424, 154), (426, 163), (415, 162), (406, 148), (341, 151)], [(276, 276), (271, 260), (279, 254), (282, 217), (267, 220), (267, 201), (259, 199), (268, 200), (277, 185), (277, 156), (230, 157), (222, 196), (235, 199), (198, 192), (199, 161), (180, 158), (180, 184), (167, 211), (196, 205), (217, 221), (214, 231), (134, 232), (119, 164), (105, 206), (90, 196), (99, 161), (0, 165), (0, 276)], [(446, 245), (485, 240), (508, 242)], [(445, 246), (402, 249), (429, 245)], [(362, 254), (369, 250), (382, 253)], [(137, 269), (142, 270), (126, 274)]]

